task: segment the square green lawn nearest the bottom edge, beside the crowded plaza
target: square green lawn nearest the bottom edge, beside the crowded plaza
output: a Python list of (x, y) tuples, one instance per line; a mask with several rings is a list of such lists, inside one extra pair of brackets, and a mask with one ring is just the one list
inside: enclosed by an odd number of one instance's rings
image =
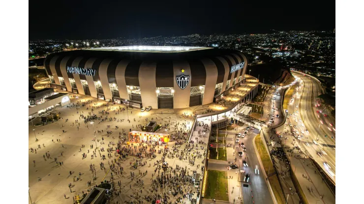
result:
[(208, 170), (206, 179), (204, 198), (229, 201), (227, 172)]

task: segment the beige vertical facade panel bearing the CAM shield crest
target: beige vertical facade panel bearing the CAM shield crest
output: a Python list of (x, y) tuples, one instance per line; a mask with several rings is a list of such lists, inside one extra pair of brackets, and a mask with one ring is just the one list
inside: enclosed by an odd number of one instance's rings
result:
[[(182, 70), (184, 71), (182, 73)], [(186, 108), (189, 107), (189, 96), (191, 92), (191, 68), (187, 61), (173, 61), (173, 89), (175, 90), (173, 96), (173, 108)], [(189, 76), (189, 82), (184, 89), (181, 89), (178, 84), (176, 77), (180, 75)]]

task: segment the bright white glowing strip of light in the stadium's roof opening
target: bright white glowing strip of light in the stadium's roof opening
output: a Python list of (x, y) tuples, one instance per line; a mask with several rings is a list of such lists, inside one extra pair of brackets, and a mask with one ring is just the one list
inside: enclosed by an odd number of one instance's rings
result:
[(121, 46), (109, 48), (95, 48), (103, 50), (119, 50), (119, 51), (189, 51), (196, 49), (208, 49), (205, 47), (177, 47), (177, 46)]

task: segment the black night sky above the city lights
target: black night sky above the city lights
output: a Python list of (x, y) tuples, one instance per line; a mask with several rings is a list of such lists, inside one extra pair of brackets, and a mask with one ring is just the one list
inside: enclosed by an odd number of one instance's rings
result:
[(334, 27), (334, 1), (325, 4), (320, 0), (33, 0), (29, 4), (30, 40), (243, 34)]

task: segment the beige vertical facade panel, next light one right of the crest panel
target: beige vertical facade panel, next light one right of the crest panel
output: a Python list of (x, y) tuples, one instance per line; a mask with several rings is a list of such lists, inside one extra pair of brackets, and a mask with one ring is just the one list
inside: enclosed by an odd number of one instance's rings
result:
[(204, 90), (204, 98), (202, 99), (202, 105), (213, 102), (213, 95), (215, 93), (216, 81), (217, 81), (217, 67), (211, 59), (204, 58), (201, 60), (206, 70), (206, 82)]

